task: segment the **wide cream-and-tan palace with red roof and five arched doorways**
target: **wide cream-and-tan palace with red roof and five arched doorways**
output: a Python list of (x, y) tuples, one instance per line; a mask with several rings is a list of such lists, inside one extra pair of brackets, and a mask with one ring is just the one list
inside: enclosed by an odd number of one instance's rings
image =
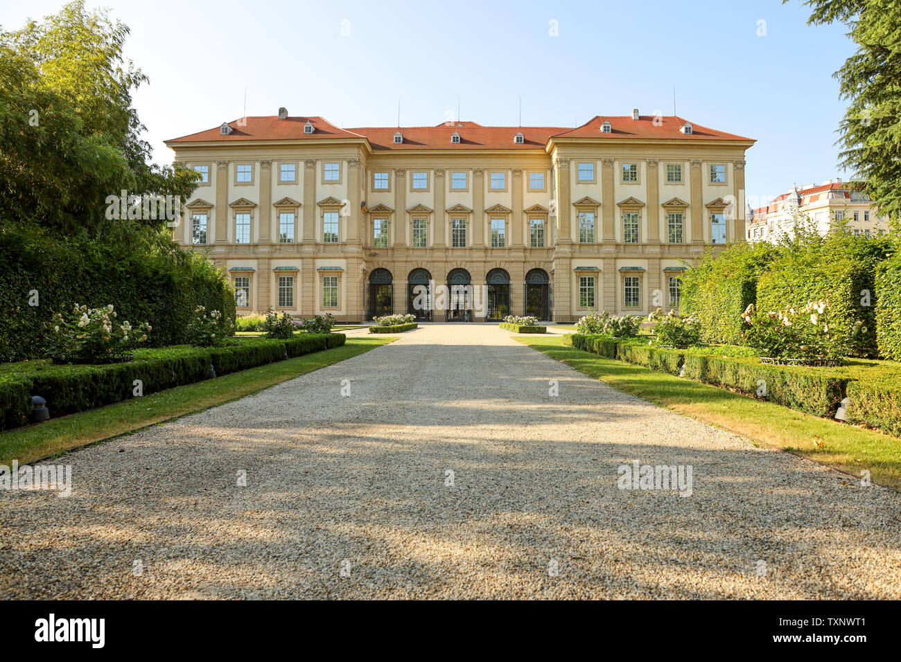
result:
[(683, 260), (744, 239), (753, 143), (637, 110), (345, 130), (280, 109), (166, 144), (203, 177), (176, 240), (227, 269), (239, 314), (564, 322), (677, 308)]

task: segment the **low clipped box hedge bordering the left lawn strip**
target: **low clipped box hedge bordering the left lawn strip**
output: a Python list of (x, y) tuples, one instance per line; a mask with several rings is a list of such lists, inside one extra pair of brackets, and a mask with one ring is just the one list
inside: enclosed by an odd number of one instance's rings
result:
[(0, 373), (0, 404), (4, 429), (28, 422), (31, 396), (41, 395), (54, 417), (83, 412), (132, 397), (133, 381), (140, 379), (144, 394), (206, 378), (210, 365), (222, 376), (250, 367), (340, 347), (343, 333), (303, 334), (288, 340), (251, 338), (235, 345), (213, 348), (187, 346), (139, 349), (129, 363), (106, 366), (54, 365), (49, 361), (4, 366)]

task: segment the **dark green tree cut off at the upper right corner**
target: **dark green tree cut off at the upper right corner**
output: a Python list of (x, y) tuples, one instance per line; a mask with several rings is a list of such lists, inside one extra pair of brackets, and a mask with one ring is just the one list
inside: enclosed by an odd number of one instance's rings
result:
[[(787, 2), (787, 0), (785, 0)], [(808, 24), (843, 23), (858, 50), (833, 75), (851, 104), (839, 126), (839, 165), (901, 219), (901, 5), (895, 0), (807, 0)]]

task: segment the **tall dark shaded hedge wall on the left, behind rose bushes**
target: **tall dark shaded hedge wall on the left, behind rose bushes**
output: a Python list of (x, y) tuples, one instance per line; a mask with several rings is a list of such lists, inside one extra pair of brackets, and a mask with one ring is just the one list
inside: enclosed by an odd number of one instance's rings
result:
[[(120, 320), (150, 322), (150, 346), (179, 344), (196, 306), (234, 319), (228, 278), (172, 242), (65, 238), (28, 225), (0, 229), (0, 362), (44, 358), (44, 332), (74, 304), (113, 304)], [(29, 304), (37, 290), (37, 306)]]

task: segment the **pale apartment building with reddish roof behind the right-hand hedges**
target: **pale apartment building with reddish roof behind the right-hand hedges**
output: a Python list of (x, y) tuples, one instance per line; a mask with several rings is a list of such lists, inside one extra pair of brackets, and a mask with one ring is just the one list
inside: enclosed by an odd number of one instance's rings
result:
[(856, 235), (875, 237), (888, 231), (888, 217), (880, 216), (869, 195), (852, 190), (852, 182), (827, 179), (823, 184), (792, 186), (765, 207), (749, 209), (748, 241), (776, 243), (793, 237), (797, 223), (826, 235), (836, 221), (847, 221)]

